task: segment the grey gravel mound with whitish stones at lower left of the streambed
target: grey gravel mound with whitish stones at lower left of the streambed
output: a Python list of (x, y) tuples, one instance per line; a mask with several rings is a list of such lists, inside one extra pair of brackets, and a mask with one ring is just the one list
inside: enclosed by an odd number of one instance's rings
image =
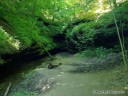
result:
[(12, 89), (9, 96), (13, 96), (17, 93), (29, 93), (36, 95), (44, 94), (45, 92), (49, 91), (54, 86), (54, 84), (55, 81), (53, 79), (47, 78), (43, 73), (39, 73), (38, 70), (37, 72), (34, 72), (29, 78), (18, 84), (14, 89)]

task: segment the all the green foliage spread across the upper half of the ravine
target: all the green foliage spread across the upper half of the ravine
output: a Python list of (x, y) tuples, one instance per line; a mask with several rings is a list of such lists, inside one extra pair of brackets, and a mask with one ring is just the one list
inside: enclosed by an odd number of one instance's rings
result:
[[(94, 47), (96, 38), (116, 36), (111, 11), (96, 13), (97, 9), (109, 9), (107, 0), (99, 3), (97, 0), (0, 1), (0, 19), (12, 28), (11, 33), (6, 30), (6, 26), (0, 28), (0, 53), (16, 51), (13, 48), (16, 47), (16, 40), (20, 42), (20, 48), (17, 48), (20, 50), (33, 44), (41, 49), (53, 49), (56, 44), (52, 36), (62, 33), (64, 25), (74, 20), (80, 22), (69, 24), (65, 34), (69, 46), (79, 51)], [(124, 2), (114, 9), (117, 23), (120, 28), (123, 24), (124, 31), (127, 31), (128, 26), (127, 5), (128, 2)], [(8, 36), (3, 36), (3, 29)]]

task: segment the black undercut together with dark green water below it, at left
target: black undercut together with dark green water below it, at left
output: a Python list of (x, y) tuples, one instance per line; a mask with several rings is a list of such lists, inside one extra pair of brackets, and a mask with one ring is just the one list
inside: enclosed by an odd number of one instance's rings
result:
[[(26, 49), (16, 54), (7, 54), (4, 56), (5, 60), (11, 59), (8, 63), (0, 66), (0, 93), (4, 94), (8, 83), (12, 83), (12, 87), (15, 87), (22, 80), (26, 79), (26, 74), (31, 73), (37, 67), (44, 67), (45, 61), (49, 60), (47, 53), (39, 54), (39, 52), (31, 51), (36, 49)], [(65, 52), (66, 49), (55, 48), (49, 50), (54, 55), (58, 52)], [(31, 54), (32, 53), (32, 54)]]

